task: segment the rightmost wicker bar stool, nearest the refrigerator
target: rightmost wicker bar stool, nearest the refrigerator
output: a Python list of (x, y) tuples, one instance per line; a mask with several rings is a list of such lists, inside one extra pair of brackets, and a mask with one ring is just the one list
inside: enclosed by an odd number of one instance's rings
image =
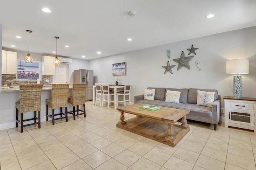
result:
[[(86, 117), (85, 111), (85, 95), (86, 95), (87, 84), (73, 84), (72, 97), (68, 97), (68, 103), (72, 104), (73, 111), (68, 111), (68, 113), (73, 114), (74, 120), (76, 120), (77, 115), (84, 115)], [(84, 110), (79, 109), (79, 105), (84, 106)], [(75, 110), (76, 106), (76, 110)], [(82, 113), (79, 113), (82, 111)], [(77, 112), (77, 114), (76, 114)]]

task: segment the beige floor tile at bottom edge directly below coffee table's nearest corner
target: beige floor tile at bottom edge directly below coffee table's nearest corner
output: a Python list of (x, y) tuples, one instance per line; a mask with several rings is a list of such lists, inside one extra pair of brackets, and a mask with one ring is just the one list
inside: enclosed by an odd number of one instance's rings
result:
[(194, 164), (171, 156), (163, 166), (169, 170), (192, 170)]

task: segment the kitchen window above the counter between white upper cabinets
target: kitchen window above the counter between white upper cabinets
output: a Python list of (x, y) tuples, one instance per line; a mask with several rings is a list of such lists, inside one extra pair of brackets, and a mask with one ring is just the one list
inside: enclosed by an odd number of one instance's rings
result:
[(17, 60), (16, 80), (41, 80), (41, 62), (25, 63), (24, 60)]

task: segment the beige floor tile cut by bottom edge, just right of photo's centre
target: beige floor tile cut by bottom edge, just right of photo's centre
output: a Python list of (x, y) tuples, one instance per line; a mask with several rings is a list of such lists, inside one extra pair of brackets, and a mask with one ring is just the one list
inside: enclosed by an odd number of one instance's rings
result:
[(152, 162), (152, 161), (142, 157), (137, 162), (135, 162), (132, 166), (130, 166), (130, 169), (141, 170), (142, 167), (145, 170), (158, 170), (161, 168), (161, 166), (156, 164), (155, 162)]

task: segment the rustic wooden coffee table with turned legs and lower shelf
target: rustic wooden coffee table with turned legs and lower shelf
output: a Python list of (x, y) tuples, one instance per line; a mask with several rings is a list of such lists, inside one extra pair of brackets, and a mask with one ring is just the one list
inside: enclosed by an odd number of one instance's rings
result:
[[(147, 137), (149, 139), (176, 146), (177, 143), (190, 131), (186, 115), (189, 110), (162, 107), (155, 111), (140, 109), (145, 104), (133, 104), (117, 107), (120, 111), (120, 121), (116, 127)], [(136, 115), (124, 121), (124, 113)], [(181, 119), (182, 125), (175, 124)]]

